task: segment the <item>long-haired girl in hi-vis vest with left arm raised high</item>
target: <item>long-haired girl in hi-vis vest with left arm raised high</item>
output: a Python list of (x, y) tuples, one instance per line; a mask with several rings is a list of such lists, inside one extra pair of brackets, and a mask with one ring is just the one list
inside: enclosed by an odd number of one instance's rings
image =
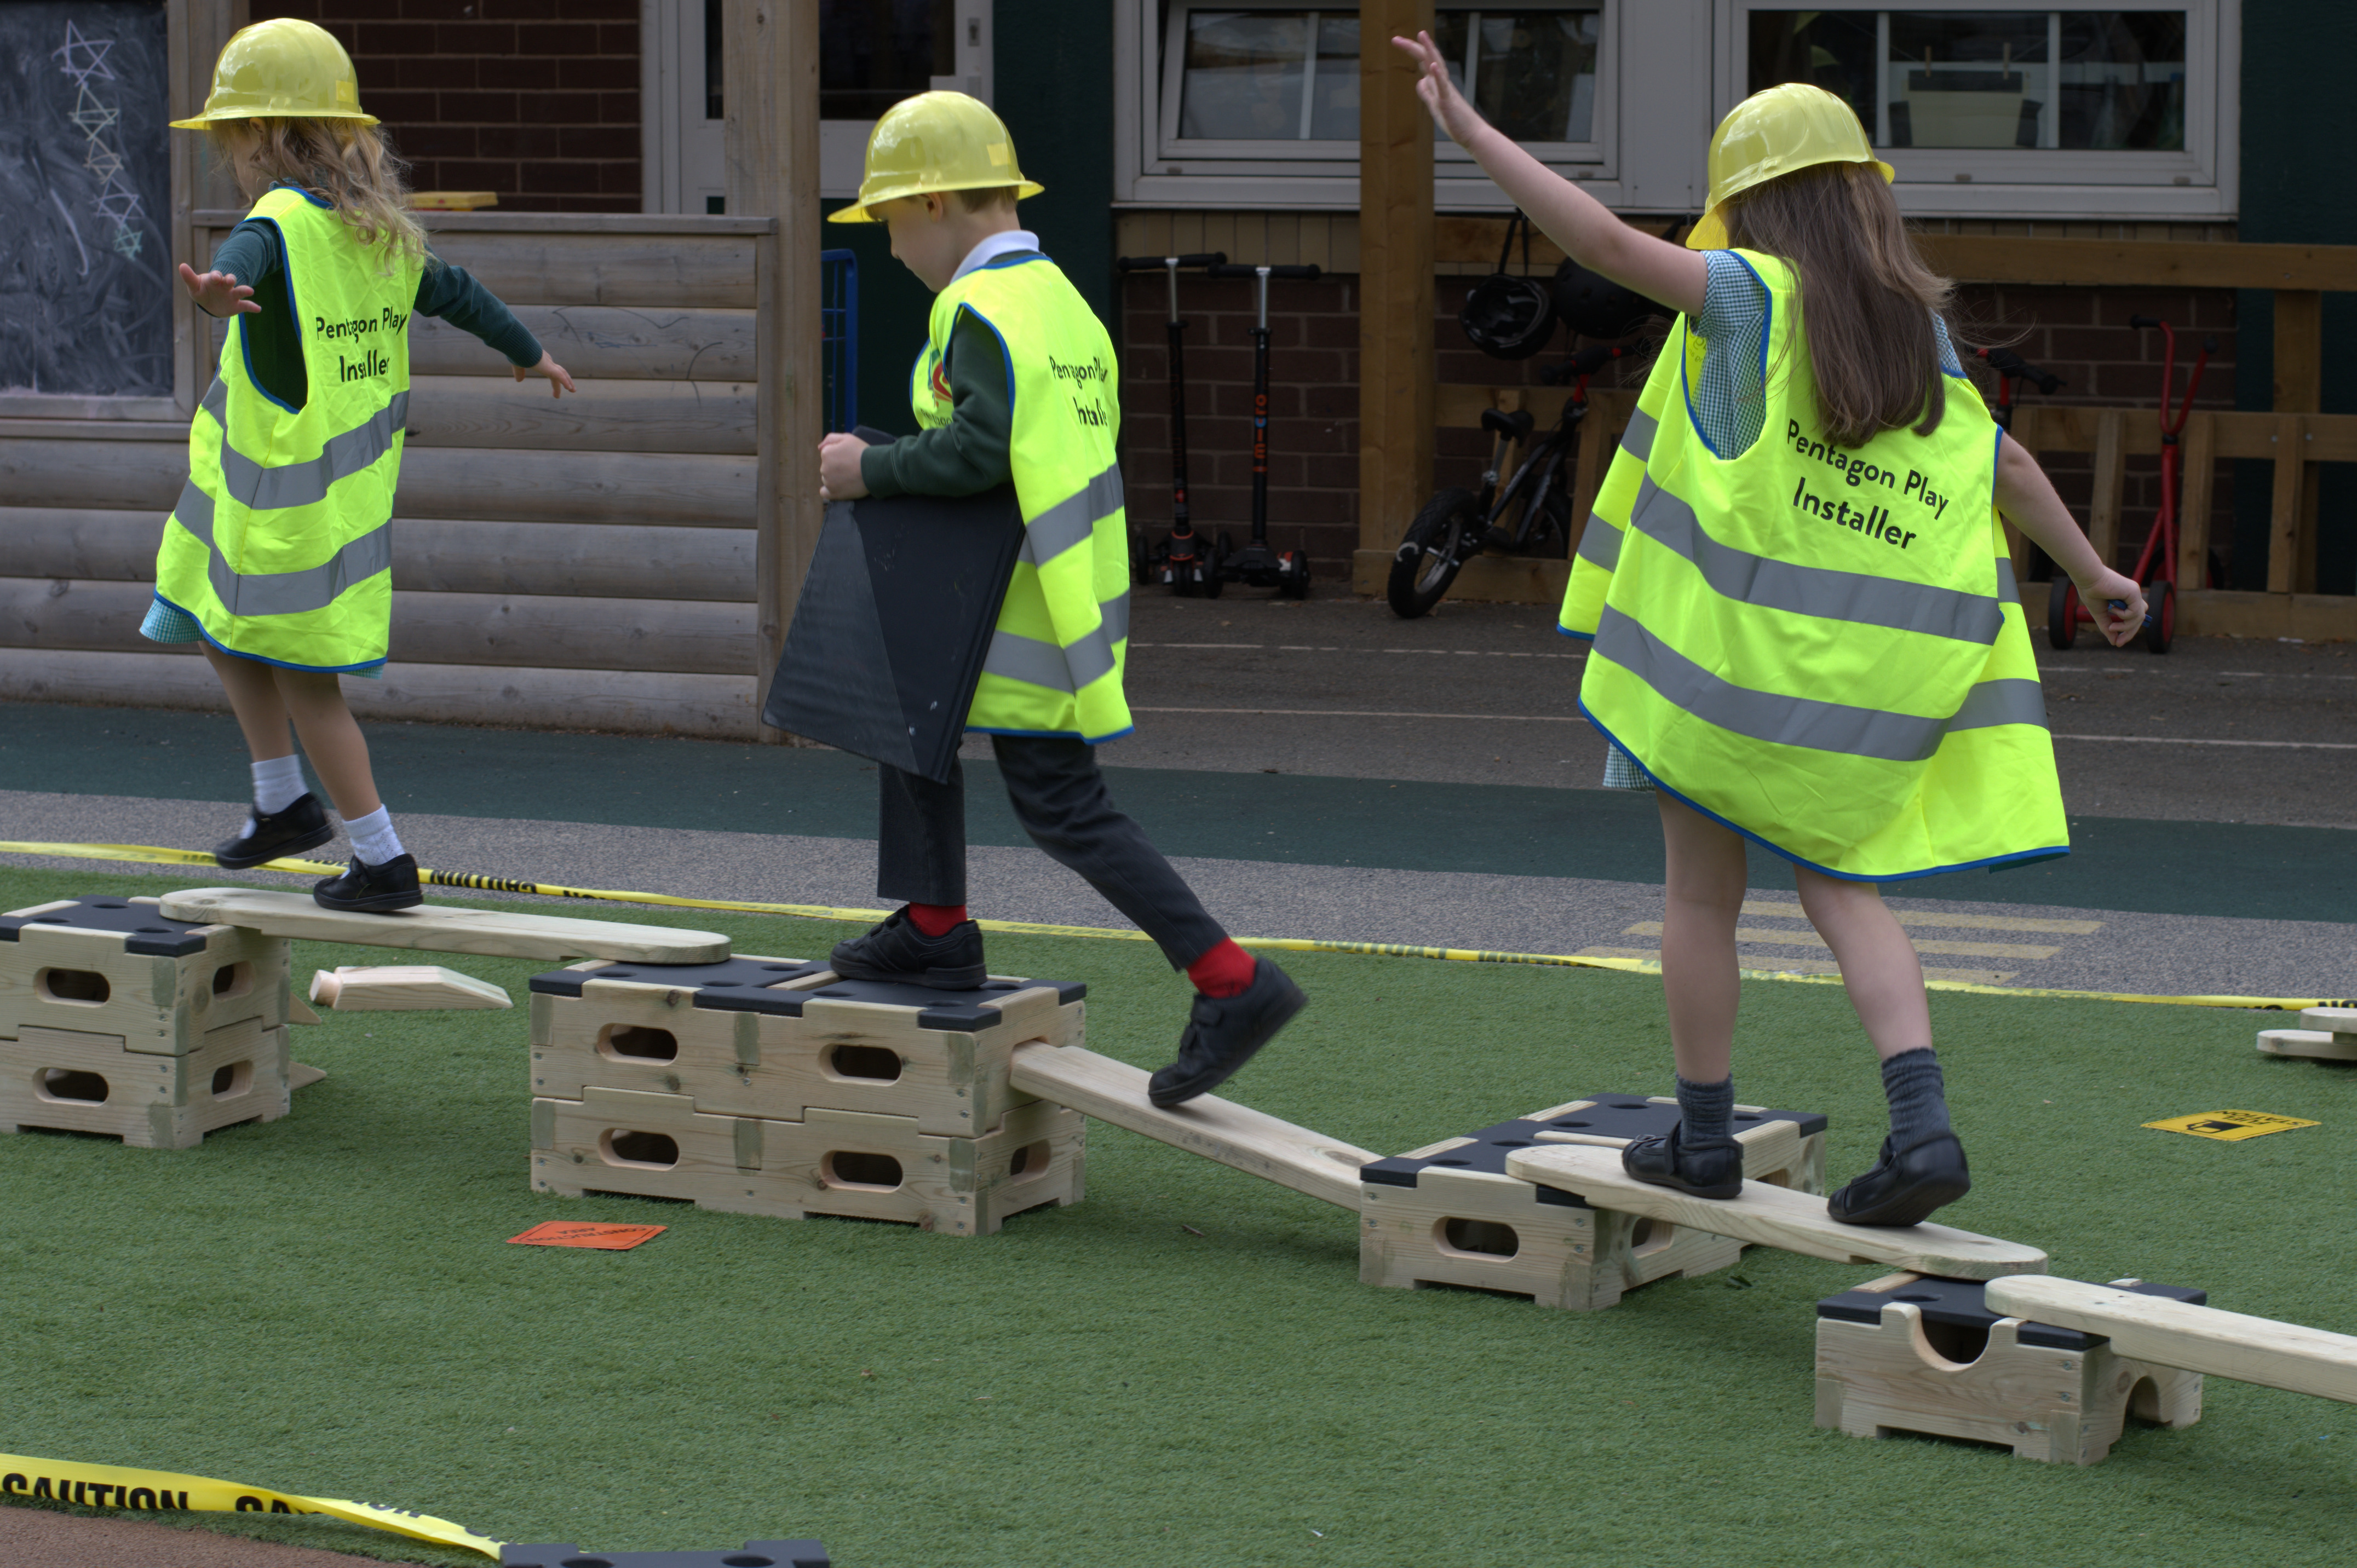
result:
[(1629, 1174), (1742, 1193), (1730, 1137), (1744, 839), (1794, 863), (1883, 1063), (1890, 1137), (1827, 1203), (1916, 1224), (1970, 1188), (1923, 969), (1881, 884), (2069, 851), (2036, 658), (1999, 512), (2069, 573), (2105, 634), (2145, 618), (2039, 465), (1963, 377), (1857, 116), (1784, 85), (1711, 137), (1685, 248), (1558, 179), (1395, 40), (1417, 92), (1567, 255), (1681, 311), (1596, 498), (1563, 630), (1579, 705), (1655, 785), (1669, 861), (1662, 990), (1678, 1127)]

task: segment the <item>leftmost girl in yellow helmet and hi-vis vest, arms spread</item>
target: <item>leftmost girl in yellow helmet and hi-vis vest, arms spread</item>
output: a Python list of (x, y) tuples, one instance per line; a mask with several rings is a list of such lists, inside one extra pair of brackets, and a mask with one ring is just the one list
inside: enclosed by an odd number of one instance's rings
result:
[(330, 910), (420, 903), (417, 861), (377, 799), (337, 684), (379, 677), (391, 627), (391, 516), (410, 387), (410, 316), (500, 349), (516, 380), (573, 380), (507, 307), (424, 248), (401, 163), (361, 113), (351, 59), (309, 21), (257, 21), (222, 50), (203, 130), (255, 203), (189, 297), (229, 318), (189, 424), (189, 486), (156, 554), (153, 641), (203, 641), (255, 757), (255, 809), (214, 849), (262, 865), (335, 837), (288, 724), (351, 839), (313, 887)]

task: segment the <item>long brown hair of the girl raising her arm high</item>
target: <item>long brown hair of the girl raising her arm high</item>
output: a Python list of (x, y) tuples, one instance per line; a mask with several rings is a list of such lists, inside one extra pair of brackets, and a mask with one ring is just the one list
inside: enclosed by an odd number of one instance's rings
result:
[(1949, 311), (1956, 285), (1916, 255), (1879, 172), (1820, 163), (1780, 174), (1730, 198), (1725, 224), (1728, 243), (1798, 274), (1817, 415), (1834, 446), (1940, 429), (1947, 377), (1933, 311)]

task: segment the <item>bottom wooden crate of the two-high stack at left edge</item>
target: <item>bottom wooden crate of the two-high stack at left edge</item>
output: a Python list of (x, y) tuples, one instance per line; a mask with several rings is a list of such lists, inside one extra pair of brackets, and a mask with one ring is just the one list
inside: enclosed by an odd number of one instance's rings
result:
[(139, 1148), (193, 1148), (207, 1132), (288, 1113), (288, 1030), (245, 1019), (181, 1054), (120, 1035), (26, 1028), (0, 1040), (0, 1132), (97, 1132)]

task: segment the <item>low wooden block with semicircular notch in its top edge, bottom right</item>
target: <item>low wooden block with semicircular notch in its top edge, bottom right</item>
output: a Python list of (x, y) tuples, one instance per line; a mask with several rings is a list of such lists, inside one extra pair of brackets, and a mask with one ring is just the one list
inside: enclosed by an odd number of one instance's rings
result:
[[(2114, 1280), (2135, 1294), (2199, 1290)], [(2128, 1415), (2201, 1419), (2201, 1375), (2131, 1361), (2102, 1335), (1992, 1311), (1985, 1280), (1890, 1273), (1817, 1302), (1817, 1424), (1860, 1438), (1926, 1431), (2025, 1460), (2098, 1464)]]

